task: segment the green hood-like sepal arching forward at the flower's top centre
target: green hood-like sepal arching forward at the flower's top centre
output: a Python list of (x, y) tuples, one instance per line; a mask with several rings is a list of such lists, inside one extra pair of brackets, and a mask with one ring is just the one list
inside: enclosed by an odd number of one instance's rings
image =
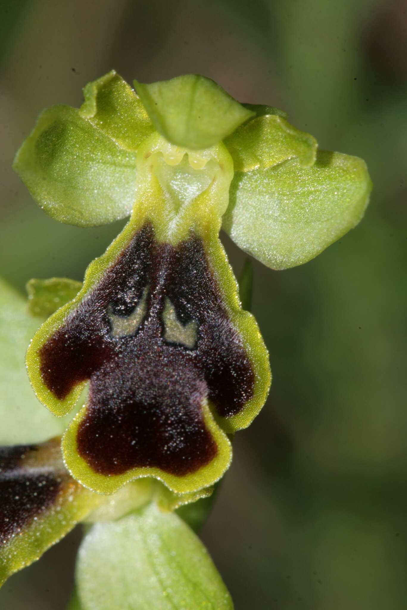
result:
[(197, 74), (134, 85), (157, 131), (178, 146), (208, 148), (254, 115), (214, 81)]

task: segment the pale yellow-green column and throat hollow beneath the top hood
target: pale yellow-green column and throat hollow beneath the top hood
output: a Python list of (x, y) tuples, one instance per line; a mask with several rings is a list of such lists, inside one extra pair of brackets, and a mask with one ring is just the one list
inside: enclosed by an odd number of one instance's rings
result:
[(137, 213), (154, 210), (157, 238), (172, 245), (204, 226), (218, 232), (232, 177), (233, 162), (223, 143), (192, 151), (154, 133), (137, 153)]

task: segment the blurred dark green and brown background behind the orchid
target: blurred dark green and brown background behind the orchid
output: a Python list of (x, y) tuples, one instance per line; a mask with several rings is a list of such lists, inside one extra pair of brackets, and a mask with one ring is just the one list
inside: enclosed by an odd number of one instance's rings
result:
[[(366, 159), (358, 228), (302, 267), (254, 264), (273, 386), (236, 436), (203, 539), (236, 610), (405, 610), (406, 2), (2, 0), (0, 24), (0, 274), (21, 290), (82, 279), (123, 225), (56, 223), (10, 168), (38, 112), (79, 106), (110, 68), (129, 82), (204, 74)], [(225, 245), (239, 272), (245, 256)], [(78, 539), (13, 576), (0, 607), (62, 609)]]

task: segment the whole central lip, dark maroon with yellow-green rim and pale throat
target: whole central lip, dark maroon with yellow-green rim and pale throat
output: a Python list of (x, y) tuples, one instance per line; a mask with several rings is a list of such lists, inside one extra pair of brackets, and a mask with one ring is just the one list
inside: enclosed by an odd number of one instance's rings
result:
[(182, 164), (187, 153), (171, 160), (171, 178), (160, 165), (164, 153), (146, 146), (131, 220), (88, 267), (76, 298), (34, 336), (27, 367), (56, 415), (70, 411), (90, 381), (62, 442), (82, 485), (113, 493), (152, 476), (175, 493), (195, 493), (225, 473), (227, 433), (258, 414), (270, 368), (218, 239), (231, 177), (226, 149), (203, 159), (205, 167), (219, 163), (208, 170), (217, 179), (206, 185), (199, 174), (195, 196), (179, 201), (171, 195), (179, 172), (195, 176)]

